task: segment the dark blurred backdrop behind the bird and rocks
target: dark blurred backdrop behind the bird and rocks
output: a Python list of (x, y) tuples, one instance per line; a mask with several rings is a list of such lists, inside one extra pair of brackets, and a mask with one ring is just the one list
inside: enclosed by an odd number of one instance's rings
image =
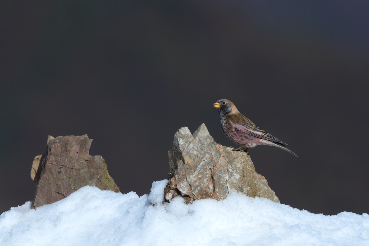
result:
[(88, 134), (148, 194), (177, 129), (234, 145), (222, 98), (299, 156), (249, 150), (281, 203), (369, 212), (368, 1), (2, 1), (0, 23), (0, 212), (33, 198), (48, 135)]

